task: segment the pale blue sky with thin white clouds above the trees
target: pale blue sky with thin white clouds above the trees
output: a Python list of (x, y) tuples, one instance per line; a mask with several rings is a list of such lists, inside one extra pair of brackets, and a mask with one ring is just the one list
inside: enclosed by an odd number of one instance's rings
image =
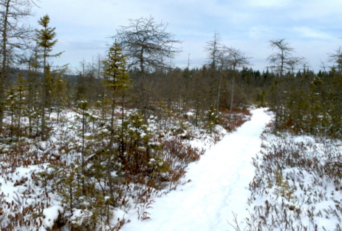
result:
[[(222, 42), (253, 57), (252, 68), (265, 70), (272, 53), (268, 41), (286, 38), (295, 55), (310, 60), (318, 71), (320, 59), (342, 46), (342, 0), (40, 0), (34, 7), (33, 26), (44, 14), (56, 27), (58, 43), (54, 51), (65, 51), (54, 64), (70, 63), (79, 68), (84, 58), (91, 62), (105, 55), (108, 36), (128, 18), (155, 18), (167, 22), (167, 31), (182, 40), (182, 52), (175, 58), (178, 67), (206, 62), (204, 47), (216, 32)], [(80, 69), (80, 68), (79, 68)]]

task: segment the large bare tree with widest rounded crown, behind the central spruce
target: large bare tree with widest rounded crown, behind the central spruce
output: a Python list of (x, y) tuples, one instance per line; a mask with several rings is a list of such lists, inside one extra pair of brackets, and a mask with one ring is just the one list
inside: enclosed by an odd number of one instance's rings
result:
[(174, 34), (166, 31), (167, 24), (156, 23), (152, 16), (129, 19), (129, 22), (128, 26), (121, 26), (113, 38), (124, 48), (128, 69), (140, 70), (144, 119), (147, 122), (148, 87), (144, 78), (147, 73), (156, 69), (170, 68), (171, 60), (181, 51), (174, 45), (181, 41), (174, 39)]

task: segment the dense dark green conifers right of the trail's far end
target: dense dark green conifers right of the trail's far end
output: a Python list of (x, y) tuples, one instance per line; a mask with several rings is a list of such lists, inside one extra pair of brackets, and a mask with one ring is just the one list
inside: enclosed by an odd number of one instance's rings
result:
[(277, 78), (268, 91), (270, 108), (276, 112), (275, 131), (341, 138), (341, 93), (341, 68)]

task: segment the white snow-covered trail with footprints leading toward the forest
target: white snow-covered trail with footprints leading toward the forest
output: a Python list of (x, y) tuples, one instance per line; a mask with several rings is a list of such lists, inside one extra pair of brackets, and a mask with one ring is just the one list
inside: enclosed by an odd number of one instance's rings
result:
[(239, 220), (248, 216), (246, 210), (247, 189), (253, 179), (252, 157), (260, 150), (260, 134), (270, 116), (264, 109), (252, 110), (253, 116), (237, 131), (227, 134), (201, 157), (189, 164), (185, 179), (191, 182), (178, 186), (177, 190), (156, 198), (152, 204), (151, 220), (132, 221), (123, 231), (209, 231), (232, 229), (232, 211)]

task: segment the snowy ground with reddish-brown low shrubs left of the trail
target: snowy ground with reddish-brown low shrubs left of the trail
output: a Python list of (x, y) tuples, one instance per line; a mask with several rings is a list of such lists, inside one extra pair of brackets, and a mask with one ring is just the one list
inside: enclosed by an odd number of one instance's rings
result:
[[(127, 114), (131, 112), (132, 110), (129, 110)], [(91, 137), (91, 135), (97, 134), (99, 124), (102, 124), (99, 122), (98, 111), (89, 110), (89, 114), (86, 117), (88, 122), (84, 134), (87, 137), (85, 146), (88, 148), (86, 158), (94, 156), (94, 153), (103, 145), (103, 143), (98, 143), (99, 140)], [(5, 227), (6, 230), (13, 231), (33, 229), (44, 231), (50, 230), (52, 226), (60, 227), (63, 225), (64, 230), (69, 230), (70, 225), (73, 224), (77, 228), (83, 228), (92, 222), (89, 219), (90, 215), (93, 214), (92, 212), (95, 211), (92, 209), (102, 209), (101, 212), (107, 209), (107, 206), (99, 208), (94, 197), (77, 196), (82, 201), (79, 204), (77, 202), (71, 208), (72, 215), (70, 215), (71, 209), (67, 207), (68, 203), (63, 203), (64, 195), (61, 192), (67, 186), (60, 186), (60, 183), (56, 183), (57, 180), (61, 179), (57, 176), (56, 171), (66, 173), (66, 176), (69, 176), (74, 169), (73, 164), (79, 162), (80, 146), (82, 145), (80, 133), (82, 114), (77, 110), (64, 110), (59, 115), (58, 123), (55, 118), (56, 113), (51, 113), (47, 122), (51, 129), (51, 136), (48, 140), (41, 141), (39, 137), (35, 139), (25, 137), (19, 142), (0, 143), (0, 230)], [(108, 213), (110, 220), (106, 223), (104, 223), (103, 217), (101, 217), (102, 219), (94, 217), (95, 222), (92, 224), (96, 223), (97, 229), (94, 226), (92, 229), (98, 230), (102, 225), (102, 230), (117, 230), (117, 227), (128, 220), (127, 217), (132, 220), (136, 217), (142, 220), (147, 216), (152, 218), (151, 215), (144, 212), (146, 212), (146, 206), (153, 199), (153, 195), (167, 194), (170, 190), (173, 191), (176, 187), (175, 184), (179, 185), (185, 182), (182, 176), (188, 163), (197, 161), (205, 150), (210, 149), (221, 137), (227, 134), (227, 130), (220, 125), (215, 126), (215, 132), (209, 132), (203, 121), (199, 121), (200, 126), (195, 126), (190, 122), (191, 119), (193, 118), (182, 120), (178, 116), (171, 116), (167, 121), (163, 121), (157, 117), (150, 117), (147, 130), (153, 136), (151, 143), (164, 143), (162, 152), (159, 154), (170, 164), (171, 170), (167, 175), (168, 178), (166, 178), (168, 180), (159, 182), (166, 188), (161, 189), (162, 187), (159, 184), (155, 184), (158, 186), (156, 189), (153, 184), (147, 186), (140, 181), (130, 181), (129, 187), (123, 183), (120, 184), (120, 190), (122, 189), (124, 192), (118, 195), (118, 198), (122, 204)], [(223, 119), (222, 124), (224, 126), (230, 125), (230, 128), (234, 129), (248, 119), (250, 119), (249, 113), (239, 112), (234, 113), (234, 119), (229, 123)], [(27, 119), (24, 118), (23, 121), (27, 122)], [(100, 129), (102, 129), (102, 125)], [(65, 163), (67, 164), (65, 165)], [(91, 163), (93, 162), (89, 161), (87, 166), (90, 166)], [(112, 172), (113, 175), (115, 173)], [(93, 180), (97, 186), (97, 192), (107, 189), (99, 186), (100, 183), (106, 185), (105, 177), (100, 179), (103, 180), (101, 182), (93, 177), (89, 180)], [(129, 177), (128, 180), (130, 180)], [(71, 183), (77, 181), (78, 176), (71, 178)], [(75, 194), (73, 193), (73, 195)], [(75, 196), (73, 200), (75, 201)], [(93, 204), (85, 207), (84, 205), (88, 205), (89, 201), (92, 201)], [(94, 208), (95, 205), (96, 208)]]

